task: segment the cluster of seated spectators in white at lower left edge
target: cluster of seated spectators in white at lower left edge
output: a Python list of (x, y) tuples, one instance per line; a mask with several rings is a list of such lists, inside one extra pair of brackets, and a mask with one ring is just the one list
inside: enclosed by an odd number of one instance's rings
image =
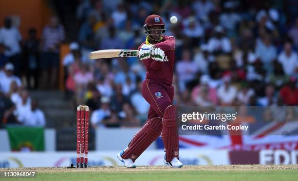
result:
[(12, 63), (0, 70), (0, 128), (6, 124), (45, 126), (45, 116), (38, 109), (37, 100), (30, 98), (14, 71)]

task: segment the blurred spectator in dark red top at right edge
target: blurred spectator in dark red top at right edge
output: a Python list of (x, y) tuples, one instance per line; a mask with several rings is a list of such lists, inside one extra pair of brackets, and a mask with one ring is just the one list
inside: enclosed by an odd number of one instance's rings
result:
[(288, 106), (298, 105), (298, 88), (296, 86), (297, 79), (291, 77), (289, 84), (283, 86), (279, 91), (279, 96), (283, 102)]

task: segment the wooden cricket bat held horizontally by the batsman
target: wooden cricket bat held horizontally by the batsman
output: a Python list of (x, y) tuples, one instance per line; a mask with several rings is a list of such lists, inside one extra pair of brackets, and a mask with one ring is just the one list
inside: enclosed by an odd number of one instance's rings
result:
[(90, 53), (90, 59), (99, 58), (116, 58), (116, 57), (137, 57), (139, 50), (137, 49), (103, 49)]

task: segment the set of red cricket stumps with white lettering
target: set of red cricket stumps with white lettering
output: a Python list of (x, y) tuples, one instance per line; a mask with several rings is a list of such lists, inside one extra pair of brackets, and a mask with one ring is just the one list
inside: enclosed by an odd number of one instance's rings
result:
[(87, 168), (89, 139), (89, 107), (77, 106), (76, 110), (76, 168)]

